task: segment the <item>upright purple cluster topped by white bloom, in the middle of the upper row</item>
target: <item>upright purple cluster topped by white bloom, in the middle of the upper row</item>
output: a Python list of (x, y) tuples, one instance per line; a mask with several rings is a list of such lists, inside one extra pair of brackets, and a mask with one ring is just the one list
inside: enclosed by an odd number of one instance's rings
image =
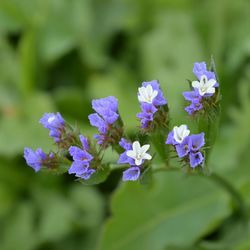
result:
[[(141, 104), (141, 112), (137, 114), (137, 118), (141, 121), (142, 129), (149, 131), (156, 125), (154, 123), (164, 124), (166, 112), (160, 108), (166, 105), (167, 101), (157, 80), (142, 83), (142, 87), (138, 89), (138, 100)], [(156, 117), (157, 113), (158, 117)]]

